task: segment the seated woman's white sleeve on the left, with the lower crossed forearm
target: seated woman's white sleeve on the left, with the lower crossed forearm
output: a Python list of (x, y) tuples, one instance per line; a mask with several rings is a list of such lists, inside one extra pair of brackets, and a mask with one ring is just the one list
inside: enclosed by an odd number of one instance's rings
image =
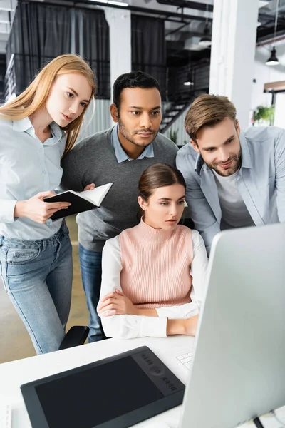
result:
[[(121, 270), (120, 241), (119, 237), (116, 236), (109, 239), (103, 248), (100, 300), (109, 292), (113, 292), (115, 288), (122, 291), (120, 286)], [(147, 336), (166, 337), (167, 318), (137, 315), (105, 317), (104, 312), (100, 314), (100, 317), (107, 337), (115, 337), (116, 339)]]

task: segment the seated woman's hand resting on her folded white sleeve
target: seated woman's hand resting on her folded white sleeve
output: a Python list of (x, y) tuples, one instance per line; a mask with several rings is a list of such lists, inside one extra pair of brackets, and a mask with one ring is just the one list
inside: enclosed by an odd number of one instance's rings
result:
[(98, 315), (111, 317), (113, 315), (138, 315), (138, 309), (118, 288), (105, 295), (100, 300)]

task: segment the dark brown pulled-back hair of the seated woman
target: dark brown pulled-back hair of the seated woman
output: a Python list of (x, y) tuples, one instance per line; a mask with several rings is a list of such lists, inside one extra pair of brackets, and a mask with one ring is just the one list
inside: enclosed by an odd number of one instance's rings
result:
[(147, 202), (153, 190), (172, 184), (181, 184), (186, 188), (186, 183), (180, 170), (167, 163), (155, 163), (140, 175), (138, 190), (141, 198)]

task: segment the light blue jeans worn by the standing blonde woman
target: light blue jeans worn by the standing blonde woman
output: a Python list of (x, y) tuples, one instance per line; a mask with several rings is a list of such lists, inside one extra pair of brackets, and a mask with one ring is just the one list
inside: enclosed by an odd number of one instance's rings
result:
[(72, 248), (63, 221), (43, 240), (0, 235), (0, 274), (38, 354), (58, 350), (71, 307)]

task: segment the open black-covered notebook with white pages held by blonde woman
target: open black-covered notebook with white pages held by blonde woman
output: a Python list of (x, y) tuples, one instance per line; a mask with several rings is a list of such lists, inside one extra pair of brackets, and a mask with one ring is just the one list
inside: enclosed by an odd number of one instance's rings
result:
[(85, 190), (83, 192), (74, 192), (74, 190), (66, 190), (66, 192), (57, 193), (57, 195), (44, 198), (45, 202), (70, 202), (71, 205), (64, 209), (58, 210), (51, 216), (51, 220), (67, 217), (71, 214), (83, 213), (84, 211), (93, 210), (100, 207), (105, 195), (107, 195), (113, 183), (100, 185), (93, 190)]

